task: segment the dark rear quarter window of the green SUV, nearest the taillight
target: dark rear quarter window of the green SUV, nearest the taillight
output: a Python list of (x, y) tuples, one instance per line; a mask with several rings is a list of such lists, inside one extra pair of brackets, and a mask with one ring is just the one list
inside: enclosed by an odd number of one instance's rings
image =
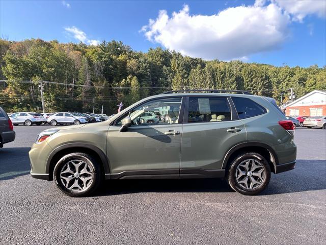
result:
[(233, 104), (240, 119), (266, 113), (266, 109), (256, 102), (244, 97), (232, 97)]

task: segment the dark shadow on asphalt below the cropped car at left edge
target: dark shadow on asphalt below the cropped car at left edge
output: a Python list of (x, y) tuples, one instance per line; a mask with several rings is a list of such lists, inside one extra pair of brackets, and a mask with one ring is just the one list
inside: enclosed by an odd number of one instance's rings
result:
[(0, 148), (0, 181), (30, 173), (30, 149), (29, 147)]

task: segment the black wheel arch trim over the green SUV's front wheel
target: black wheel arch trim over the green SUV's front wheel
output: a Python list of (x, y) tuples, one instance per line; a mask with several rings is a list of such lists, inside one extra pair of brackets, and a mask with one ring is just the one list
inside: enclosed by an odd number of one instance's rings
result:
[(110, 165), (107, 157), (97, 146), (87, 143), (69, 143), (56, 148), (47, 158), (46, 173), (49, 174), (49, 180), (53, 179), (53, 169), (56, 163), (65, 155), (74, 152), (84, 152), (94, 156), (100, 163), (103, 175), (110, 173)]

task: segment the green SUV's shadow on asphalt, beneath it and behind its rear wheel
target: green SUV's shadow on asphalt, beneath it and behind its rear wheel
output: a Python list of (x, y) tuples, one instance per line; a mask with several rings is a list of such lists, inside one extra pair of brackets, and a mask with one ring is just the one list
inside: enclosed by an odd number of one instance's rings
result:
[[(272, 174), (259, 195), (274, 195), (326, 189), (326, 160), (297, 160), (296, 168)], [(223, 179), (106, 180), (94, 195), (138, 192), (233, 192)]]

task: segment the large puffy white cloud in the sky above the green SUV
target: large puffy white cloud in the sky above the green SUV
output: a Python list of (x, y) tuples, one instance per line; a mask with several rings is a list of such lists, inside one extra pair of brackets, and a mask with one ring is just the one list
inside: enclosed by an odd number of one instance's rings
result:
[[(310, 4), (315, 2), (326, 1), (310, 1)], [(322, 16), (321, 11), (314, 11), (316, 7), (303, 12), (301, 7), (290, 9), (285, 5), (278, 0), (257, 0), (252, 6), (227, 8), (214, 15), (191, 15), (189, 7), (184, 5), (172, 16), (160, 10), (158, 17), (149, 19), (140, 32), (144, 32), (148, 40), (183, 55), (203, 59), (248, 59), (252, 54), (280, 48), (289, 36), (291, 17), (302, 19), (308, 13)]]

